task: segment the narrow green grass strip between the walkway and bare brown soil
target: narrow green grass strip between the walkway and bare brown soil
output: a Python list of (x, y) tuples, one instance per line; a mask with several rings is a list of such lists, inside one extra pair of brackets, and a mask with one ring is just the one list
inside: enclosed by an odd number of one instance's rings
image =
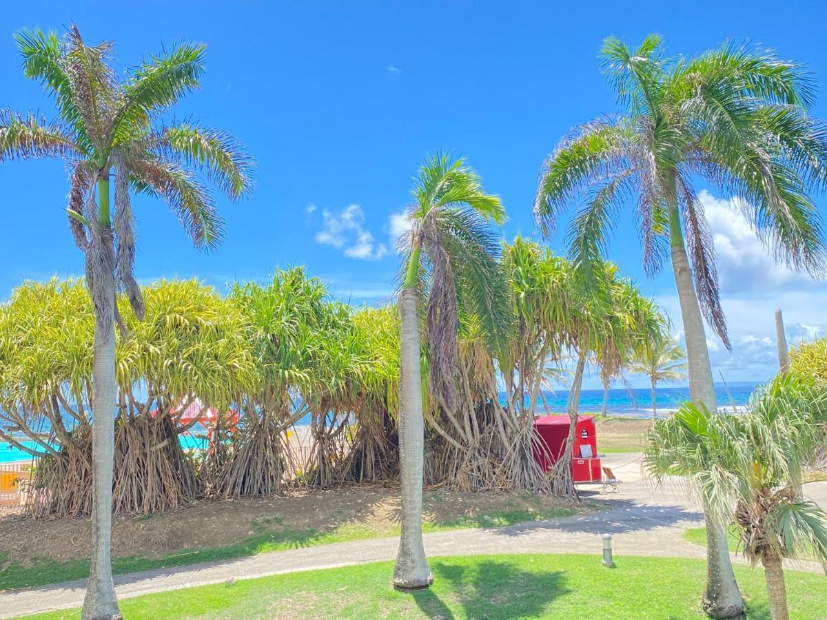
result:
[[(475, 517), (462, 517), (452, 521), (424, 522), (423, 532), (441, 532), (443, 530), (466, 527), (502, 527), (528, 521), (539, 521), (558, 517), (570, 517), (576, 514), (571, 508), (553, 508), (542, 511), (501, 510)], [(209, 547), (194, 551), (183, 551), (164, 557), (117, 557), (112, 560), (112, 572), (115, 575), (134, 573), (139, 570), (152, 570), (213, 562), (232, 558), (255, 556), (270, 551), (285, 551), (299, 547), (325, 545), (332, 542), (360, 541), (368, 538), (399, 536), (399, 526), (390, 530), (376, 532), (363, 523), (347, 523), (328, 532), (318, 530), (262, 532), (267, 524), (254, 522), (251, 527), (258, 532), (233, 545)], [(85, 579), (89, 575), (88, 560), (55, 561), (35, 558), (26, 565), (8, 562), (0, 556), (0, 590), (31, 588), (37, 585), (57, 584), (63, 581)]]

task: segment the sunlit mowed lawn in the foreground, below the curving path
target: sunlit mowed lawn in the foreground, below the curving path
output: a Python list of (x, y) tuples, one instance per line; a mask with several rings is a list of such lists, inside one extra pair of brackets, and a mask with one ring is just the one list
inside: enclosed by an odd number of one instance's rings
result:
[[(390, 586), (390, 562), (314, 570), (123, 599), (126, 620), (155, 618), (703, 618), (700, 560), (599, 556), (432, 558), (434, 584)], [(735, 566), (748, 618), (769, 618), (760, 569)], [(827, 618), (827, 579), (788, 571), (790, 617)], [(78, 618), (48, 613), (36, 618)]]

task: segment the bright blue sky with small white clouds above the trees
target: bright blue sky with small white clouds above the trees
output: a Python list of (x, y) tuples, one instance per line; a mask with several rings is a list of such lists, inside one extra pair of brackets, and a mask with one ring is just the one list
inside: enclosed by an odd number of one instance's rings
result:
[[(616, 109), (598, 70), (605, 36), (637, 43), (660, 33), (672, 54), (695, 55), (748, 40), (805, 62), (827, 83), (820, 2), (14, 2), (0, 17), (0, 108), (53, 111), (26, 80), (12, 41), (22, 26), (63, 31), (75, 21), (88, 41), (111, 39), (121, 68), (194, 40), (208, 44), (201, 91), (178, 118), (232, 131), (258, 164), (241, 204), (219, 199), (223, 246), (194, 250), (163, 203), (136, 201), (136, 272), (143, 282), (198, 277), (222, 286), (261, 279), (275, 266), (307, 265), (353, 302), (390, 298), (393, 233), (409, 179), (435, 149), (465, 155), (509, 212), (502, 233), (533, 234), (533, 192), (543, 158), (571, 127)], [(815, 114), (827, 117), (822, 94)], [(0, 298), (22, 279), (82, 273), (63, 212), (63, 165), (0, 165)], [(699, 190), (703, 186), (698, 187)], [(777, 268), (729, 197), (705, 195), (719, 247), (734, 339), (712, 346), (728, 380), (772, 374), (772, 309), (784, 308), (792, 340), (825, 332), (825, 287)], [(821, 207), (824, 198), (818, 198)], [(394, 217), (397, 216), (397, 217)], [(631, 219), (631, 218), (628, 218)], [(550, 242), (562, 248), (564, 231)], [(635, 231), (620, 222), (609, 257), (657, 297), (680, 329), (672, 276), (647, 279)], [(591, 379), (594, 383), (594, 379)]]

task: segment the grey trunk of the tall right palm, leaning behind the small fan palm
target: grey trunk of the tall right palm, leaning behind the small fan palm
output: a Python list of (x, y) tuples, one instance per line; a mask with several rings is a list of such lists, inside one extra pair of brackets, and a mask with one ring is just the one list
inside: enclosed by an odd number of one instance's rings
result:
[[(676, 203), (669, 208), (672, 270), (675, 275), (681, 318), (686, 338), (686, 365), (689, 372), (689, 395), (693, 403), (717, 411), (715, 384), (712, 381), (710, 353), (706, 346), (704, 320), (692, 282), (692, 272), (681, 235), (681, 221)], [(710, 511), (704, 510), (706, 522), (706, 585), (704, 609), (713, 618), (734, 618), (743, 613), (743, 599), (735, 581), (729, 559), (726, 532)]]

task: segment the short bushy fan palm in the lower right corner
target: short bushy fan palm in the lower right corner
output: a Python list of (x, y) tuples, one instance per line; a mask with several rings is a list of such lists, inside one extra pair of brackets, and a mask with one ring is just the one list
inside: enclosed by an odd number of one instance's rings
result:
[(649, 432), (644, 465), (656, 478), (688, 475), (716, 520), (734, 525), (744, 555), (764, 567), (773, 620), (788, 618), (783, 558), (815, 555), (827, 568), (827, 513), (801, 492), (825, 412), (825, 389), (779, 376), (742, 415), (686, 403)]

